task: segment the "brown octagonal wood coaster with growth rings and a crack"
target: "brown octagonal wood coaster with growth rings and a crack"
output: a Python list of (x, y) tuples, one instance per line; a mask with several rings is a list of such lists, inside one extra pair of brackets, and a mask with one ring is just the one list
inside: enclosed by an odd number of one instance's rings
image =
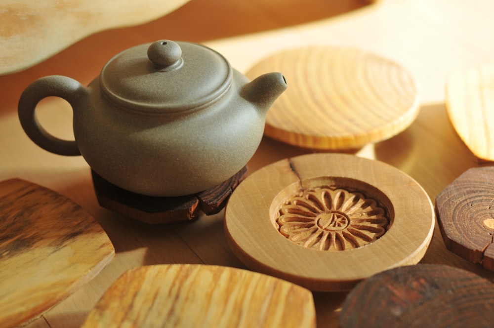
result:
[(470, 168), (436, 196), (446, 248), (494, 271), (494, 167)]

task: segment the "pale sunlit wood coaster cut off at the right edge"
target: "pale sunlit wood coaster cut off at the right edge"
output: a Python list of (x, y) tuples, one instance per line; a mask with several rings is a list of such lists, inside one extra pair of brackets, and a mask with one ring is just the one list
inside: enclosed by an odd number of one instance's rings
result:
[(494, 66), (455, 71), (446, 104), (454, 129), (481, 162), (494, 161)]

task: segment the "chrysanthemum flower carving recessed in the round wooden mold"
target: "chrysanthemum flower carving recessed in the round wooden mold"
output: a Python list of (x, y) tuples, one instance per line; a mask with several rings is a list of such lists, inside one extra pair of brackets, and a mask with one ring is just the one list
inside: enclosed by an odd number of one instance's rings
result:
[(317, 188), (280, 208), (279, 231), (290, 241), (319, 250), (345, 250), (374, 242), (390, 220), (384, 208), (362, 193)]

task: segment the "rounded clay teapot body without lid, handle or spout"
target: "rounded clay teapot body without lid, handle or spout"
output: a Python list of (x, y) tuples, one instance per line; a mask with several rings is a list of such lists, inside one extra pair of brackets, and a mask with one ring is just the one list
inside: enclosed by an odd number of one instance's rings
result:
[[(234, 74), (231, 88), (248, 82)], [(262, 138), (264, 114), (237, 92), (203, 108), (149, 114), (112, 103), (99, 87), (91, 82), (88, 101), (74, 108), (74, 136), (89, 166), (125, 190), (173, 197), (212, 188), (242, 169)]]

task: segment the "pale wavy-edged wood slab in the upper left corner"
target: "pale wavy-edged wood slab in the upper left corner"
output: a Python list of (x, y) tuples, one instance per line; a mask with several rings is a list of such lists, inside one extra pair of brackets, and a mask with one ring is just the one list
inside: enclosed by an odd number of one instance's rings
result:
[(0, 75), (33, 66), (92, 33), (142, 24), (186, 2), (188, 0), (3, 0), (0, 3)]

